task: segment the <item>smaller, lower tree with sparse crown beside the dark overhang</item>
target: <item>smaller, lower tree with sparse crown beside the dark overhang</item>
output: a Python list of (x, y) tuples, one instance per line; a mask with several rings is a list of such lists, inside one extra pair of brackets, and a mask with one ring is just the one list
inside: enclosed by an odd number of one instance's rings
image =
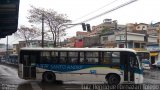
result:
[(24, 39), (26, 45), (29, 46), (29, 41), (39, 37), (41, 35), (41, 32), (39, 32), (39, 30), (37, 30), (37, 28), (35, 27), (29, 28), (22, 25), (14, 35), (16, 37), (19, 37), (20, 39)]

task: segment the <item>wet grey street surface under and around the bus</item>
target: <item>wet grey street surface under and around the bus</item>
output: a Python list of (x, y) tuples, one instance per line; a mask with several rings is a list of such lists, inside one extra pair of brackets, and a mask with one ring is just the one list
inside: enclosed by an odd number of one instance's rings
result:
[[(20, 79), (17, 75), (17, 68), (13, 65), (0, 64), (0, 90), (90, 90), (91, 88), (108, 90), (104, 84), (89, 84), (82, 82), (43, 83), (41, 81), (31, 81)], [(102, 88), (103, 87), (103, 88)], [(160, 70), (144, 71), (144, 90), (160, 89)], [(96, 89), (96, 90), (99, 90)], [(113, 90), (113, 88), (111, 88)]]

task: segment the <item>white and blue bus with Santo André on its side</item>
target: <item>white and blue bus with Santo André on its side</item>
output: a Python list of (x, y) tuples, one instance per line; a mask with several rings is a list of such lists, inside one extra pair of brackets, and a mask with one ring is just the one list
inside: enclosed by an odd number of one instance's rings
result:
[(126, 48), (21, 48), (18, 65), (26, 80), (143, 83), (137, 54)]

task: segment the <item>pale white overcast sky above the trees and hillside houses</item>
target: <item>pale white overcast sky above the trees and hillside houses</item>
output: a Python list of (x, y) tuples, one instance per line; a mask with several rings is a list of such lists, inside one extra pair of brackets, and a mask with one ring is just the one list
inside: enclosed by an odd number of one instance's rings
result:
[[(30, 6), (54, 9), (59, 14), (67, 14), (68, 19), (73, 23), (79, 23), (89, 18), (107, 12), (131, 0), (20, 0), (19, 7), (19, 26), (30, 26), (27, 20)], [(91, 26), (98, 25), (103, 19), (109, 18), (117, 20), (118, 24), (127, 23), (147, 23), (150, 24), (160, 21), (160, 0), (137, 0), (127, 6), (97, 17), (89, 23)], [(67, 36), (75, 36), (76, 31), (82, 31), (81, 26), (67, 29)], [(0, 43), (6, 43), (6, 39), (1, 39)], [(9, 37), (9, 43), (17, 43), (15, 37)]]

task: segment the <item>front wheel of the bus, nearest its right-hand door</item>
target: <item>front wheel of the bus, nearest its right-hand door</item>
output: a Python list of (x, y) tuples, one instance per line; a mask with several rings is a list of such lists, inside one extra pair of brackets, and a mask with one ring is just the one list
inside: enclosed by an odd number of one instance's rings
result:
[(110, 74), (107, 76), (109, 85), (118, 85), (120, 83), (120, 76), (116, 74)]

